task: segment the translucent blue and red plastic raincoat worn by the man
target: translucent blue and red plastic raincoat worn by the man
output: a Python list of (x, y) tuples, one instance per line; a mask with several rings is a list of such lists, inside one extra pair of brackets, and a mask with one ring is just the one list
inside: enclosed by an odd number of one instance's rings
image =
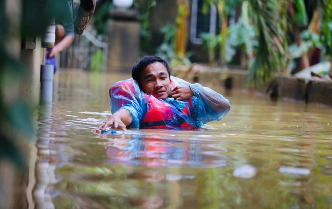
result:
[(229, 111), (229, 101), (212, 89), (173, 76), (171, 80), (171, 90), (189, 86), (194, 96), (183, 101), (172, 97), (157, 99), (143, 93), (135, 80), (128, 79), (110, 88), (112, 113), (122, 108), (128, 110), (133, 117), (129, 128), (196, 129), (220, 120)]

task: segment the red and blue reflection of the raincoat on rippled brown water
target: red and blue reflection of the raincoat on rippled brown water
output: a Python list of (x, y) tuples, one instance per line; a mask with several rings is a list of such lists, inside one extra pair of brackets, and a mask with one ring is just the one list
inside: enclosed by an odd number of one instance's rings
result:
[[(137, 132), (127, 131), (118, 136), (103, 136), (107, 142), (100, 144), (106, 146), (109, 163), (182, 167), (225, 165), (225, 157), (221, 153), (225, 151), (220, 152), (219, 149), (201, 144), (197, 141), (198, 131), (185, 131), (185, 134), (182, 134), (183, 131), (160, 130)], [(162, 136), (162, 133), (167, 135)]]

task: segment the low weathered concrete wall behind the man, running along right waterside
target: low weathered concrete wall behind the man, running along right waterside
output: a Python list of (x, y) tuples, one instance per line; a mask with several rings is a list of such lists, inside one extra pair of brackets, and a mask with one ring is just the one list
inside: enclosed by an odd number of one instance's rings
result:
[[(196, 68), (196, 69), (194, 69)], [(243, 89), (246, 87), (247, 71), (239, 69), (211, 68), (194, 65), (193, 69), (185, 66), (173, 66), (172, 75), (191, 83), (199, 82), (213, 89)], [(303, 103), (318, 103), (332, 107), (332, 81), (312, 79), (310, 82), (290, 76), (277, 76), (265, 87), (256, 89), (267, 95), (277, 94), (278, 99), (289, 98)]]

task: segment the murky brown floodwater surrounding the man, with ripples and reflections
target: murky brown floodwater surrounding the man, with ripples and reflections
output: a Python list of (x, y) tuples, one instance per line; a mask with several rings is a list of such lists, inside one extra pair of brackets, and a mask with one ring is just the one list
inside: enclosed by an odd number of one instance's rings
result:
[(56, 74), (36, 114), (31, 207), (332, 208), (330, 107), (218, 89), (231, 110), (199, 130), (93, 132), (127, 78)]

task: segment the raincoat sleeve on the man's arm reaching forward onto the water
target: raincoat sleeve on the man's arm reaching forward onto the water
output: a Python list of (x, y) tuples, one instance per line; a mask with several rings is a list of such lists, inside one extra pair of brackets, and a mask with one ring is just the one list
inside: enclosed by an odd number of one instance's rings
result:
[(133, 79), (119, 81), (110, 88), (111, 111), (114, 114), (120, 109), (126, 109), (133, 117), (129, 128), (139, 128), (139, 121), (146, 110), (143, 108), (142, 94)]

